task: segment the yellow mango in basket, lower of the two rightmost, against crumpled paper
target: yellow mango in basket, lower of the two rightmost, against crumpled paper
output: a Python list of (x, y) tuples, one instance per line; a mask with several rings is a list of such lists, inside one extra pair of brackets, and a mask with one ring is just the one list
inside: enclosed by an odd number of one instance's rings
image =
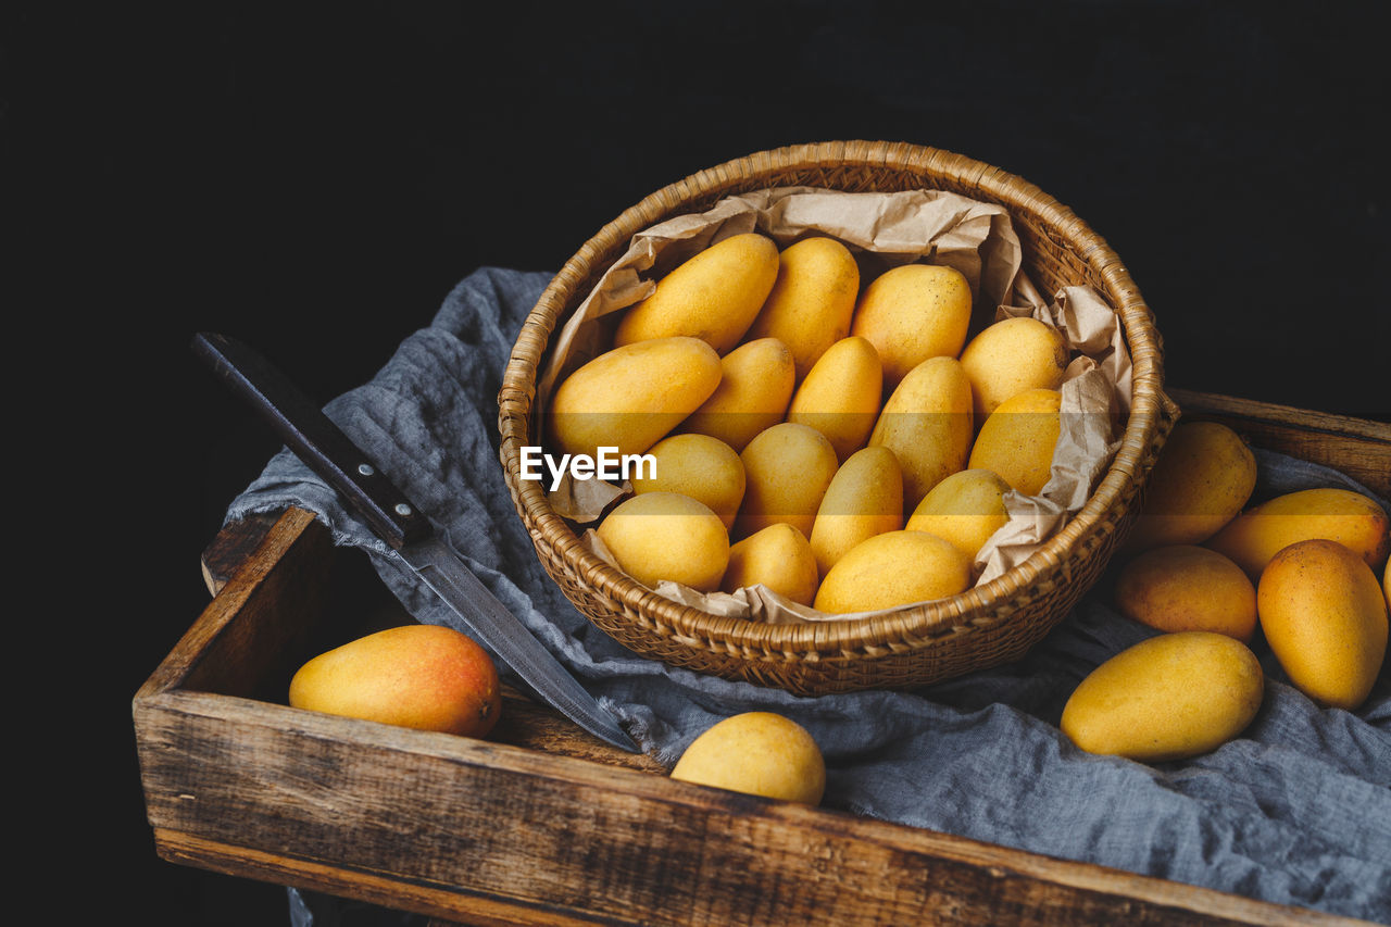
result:
[(993, 470), (1020, 493), (1038, 496), (1053, 466), (1061, 399), (1057, 390), (1025, 390), (997, 405), (975, 436), (967, 466)]

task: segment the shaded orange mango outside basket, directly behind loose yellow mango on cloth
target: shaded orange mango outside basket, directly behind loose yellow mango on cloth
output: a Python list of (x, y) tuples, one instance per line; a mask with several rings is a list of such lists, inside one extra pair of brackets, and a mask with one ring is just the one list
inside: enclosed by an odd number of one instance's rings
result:
[(1212, 631), (1242, 643), (1256, 631), (1256, 587), (1206, 547), (1152, 547), (1121, 566), (1114, 596), (1123, 615), (1159, 631)]

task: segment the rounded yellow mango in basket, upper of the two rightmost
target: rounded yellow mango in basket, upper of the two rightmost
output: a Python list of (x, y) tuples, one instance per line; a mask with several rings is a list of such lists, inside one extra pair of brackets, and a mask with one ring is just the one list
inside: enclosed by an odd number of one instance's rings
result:
[(1020, 316), (985, 327), (961, 349), (976, 422), (1025, 390), (1057, 390), (1067, 370), (1067, 341), (1053, 326)]

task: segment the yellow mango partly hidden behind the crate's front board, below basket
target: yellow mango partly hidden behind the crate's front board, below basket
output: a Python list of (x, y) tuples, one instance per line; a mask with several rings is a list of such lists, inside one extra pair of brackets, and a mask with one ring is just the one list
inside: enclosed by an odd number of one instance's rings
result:
[(815, 806), (826, 789), (826, 761), (807, 728), (791, 718), (746, 711), (691, 740), (670, 777)]

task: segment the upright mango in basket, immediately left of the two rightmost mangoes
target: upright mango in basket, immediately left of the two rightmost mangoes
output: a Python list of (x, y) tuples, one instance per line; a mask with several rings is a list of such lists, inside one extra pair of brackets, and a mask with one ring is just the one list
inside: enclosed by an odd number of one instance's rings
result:
[(911, 511), (933, 486), (965, 469), (971, 434), (971, 383), (961, 363), (929, 358), (889, 395), (869, 447), (886, 447), (899, 458), (903, 504)]

